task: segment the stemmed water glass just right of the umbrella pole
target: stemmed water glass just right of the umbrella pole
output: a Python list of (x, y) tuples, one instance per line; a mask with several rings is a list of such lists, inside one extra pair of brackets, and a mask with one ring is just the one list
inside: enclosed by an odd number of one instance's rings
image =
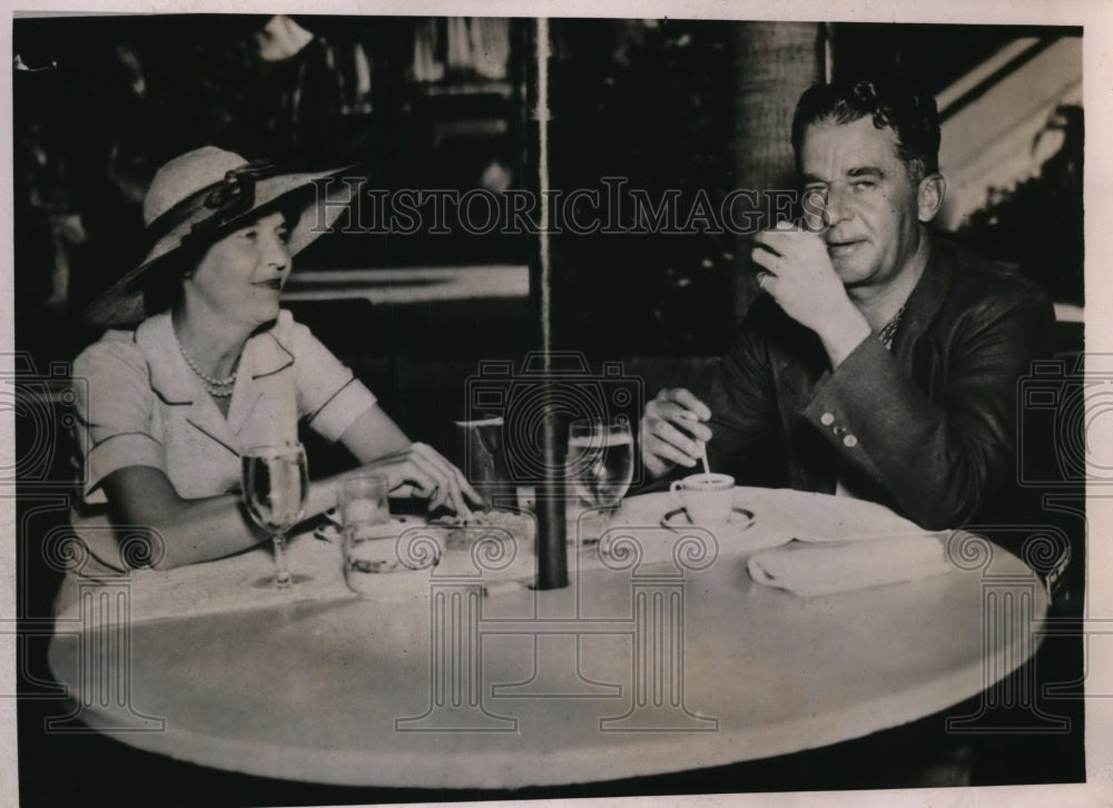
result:
[(582, 418), (569, 426), (568, 479), (580, 499), (600, 509), (600, 536), (633, 479), (633, 436), (627, 418)]

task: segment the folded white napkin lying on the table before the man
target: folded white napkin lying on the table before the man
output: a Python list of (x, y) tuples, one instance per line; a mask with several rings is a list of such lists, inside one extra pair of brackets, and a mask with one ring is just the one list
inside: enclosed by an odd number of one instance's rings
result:
[(750, 556), (758, 583), (801, 598), (847, 592), (948, 572), (939, 533), (894, 535), (851, 542), (811, 544), (794, 541)]

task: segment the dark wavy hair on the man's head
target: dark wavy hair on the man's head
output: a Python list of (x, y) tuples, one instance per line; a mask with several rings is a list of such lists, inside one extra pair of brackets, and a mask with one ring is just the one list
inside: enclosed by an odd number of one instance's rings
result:
[(804, 134), (812, 125), (853, 124), (870, 116), (878, 129), (893, 129), (897, 154), (908, 175), (919, 180), (939, 170), (939, 111), (929, 95), (881, 81), (812, 85), (796, 105), (792, 150), (800, 160)]

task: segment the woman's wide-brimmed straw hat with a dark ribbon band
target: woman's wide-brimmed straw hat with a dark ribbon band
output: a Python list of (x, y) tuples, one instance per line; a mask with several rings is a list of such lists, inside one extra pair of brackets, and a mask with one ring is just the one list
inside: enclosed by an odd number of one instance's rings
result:
[(327, 231), (351, 201), (352, 186), (334, 180), (316, 189), (318, 179), (345, 168), (278, 174), (273, 166), (248, 162), (232, 151), (204, 146), (187, 151), (155, 174), (144, 198), (142, 217), (150, 244), (139, 265), (90, 304), (92, 325), (132, 325), (147, 315), (144, 289), (184, 246), (207, 246), (249, 223), (262, 209), (278, 207), (303, 193), (304, 206), (290, 223), (288, 249), (296, 255)]

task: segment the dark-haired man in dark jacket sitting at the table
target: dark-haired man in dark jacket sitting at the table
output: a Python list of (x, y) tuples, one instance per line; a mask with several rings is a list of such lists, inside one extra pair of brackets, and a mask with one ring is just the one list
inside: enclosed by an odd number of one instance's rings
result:
[[(706, 401), (662, 391), (649, 476), (691, 467), (880, 502), (925, 529), (983, 519), (1016, 475), (1017, 380), (1050, 345), (1031, 283), (934, 236), (935, 102), (863, 81), (801, 96), (804, 226), (755, 238), (755, 302)], [(997, 501), (995, 503), (995, 501)]]

